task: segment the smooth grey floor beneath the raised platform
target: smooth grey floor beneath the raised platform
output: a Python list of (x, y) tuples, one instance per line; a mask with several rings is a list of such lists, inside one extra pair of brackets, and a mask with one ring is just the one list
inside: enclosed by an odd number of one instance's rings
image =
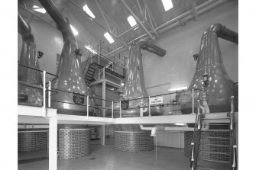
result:
[[(80, 159), (58, 159), (58, 170), (186, 170), (190, 169), (188, 158), (184, 157), (183, 149), (157, 147), (151, 152), (120, 152), (115, 146), (105, 146), (92, 141), (91, 154)], [(47, 152), (19, 153), (18, 160), (47, 156)], [(48, 160), (18, 165), (19, 170), (46, 170)], [(215, 169), (222, 170), (222, 165)]]

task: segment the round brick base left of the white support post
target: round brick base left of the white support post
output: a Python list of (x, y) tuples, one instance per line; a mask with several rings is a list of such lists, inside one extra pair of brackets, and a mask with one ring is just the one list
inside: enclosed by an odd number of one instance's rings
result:
[(48, 147), (48, 131), (19, 131), (18, 152), (36, 152)]

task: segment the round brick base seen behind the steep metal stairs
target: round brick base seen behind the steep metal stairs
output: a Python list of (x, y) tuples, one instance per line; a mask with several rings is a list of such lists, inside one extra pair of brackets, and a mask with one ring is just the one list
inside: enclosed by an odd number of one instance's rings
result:
[[(210, 159), (214, 161), (228, 162), (230, 159), (229, 132), (226, 131), (203, 131), (201, 133), (199, 159)], [(190, 144), (193, 132), (185, 132), (184, 153), (190, 156)]]

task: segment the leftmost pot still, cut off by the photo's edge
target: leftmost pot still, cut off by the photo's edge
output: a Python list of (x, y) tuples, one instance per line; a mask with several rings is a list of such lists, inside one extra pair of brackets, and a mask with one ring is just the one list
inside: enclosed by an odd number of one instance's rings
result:
[[(43, 91), (39, 89), (42, 87), (41, 72), (34, 70), (40, 69), (37, 58), (37, 47), (34, 41), (34, 36), (31, 33), (31, 27), (24, 19), (18, 14), (18, 33), (22, 37), (21, 56), (18, 66), (18, 81), (38, 88), (32, 88), (28, 85), (18, 84), (18, 104), (42, 106)], [(29, 69), (28, 66), (34, 69)]]

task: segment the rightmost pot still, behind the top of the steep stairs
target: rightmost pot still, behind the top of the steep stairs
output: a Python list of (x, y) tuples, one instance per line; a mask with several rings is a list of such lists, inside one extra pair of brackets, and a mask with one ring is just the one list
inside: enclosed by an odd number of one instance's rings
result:
[(192, 94), (194, 101), (200, 100), (200, 109), (205, 113), (231, 111), (231, 96), (235, 96), (235, 111), (238, 111), (238, 85), (229, 78), (222, 62), (218, 38), (238, 44), (238, 33), (222, 24), (211, 25), (201, 39), (196, 72), (187, 91), (178, 93), (182, 114), (192, 113)]

